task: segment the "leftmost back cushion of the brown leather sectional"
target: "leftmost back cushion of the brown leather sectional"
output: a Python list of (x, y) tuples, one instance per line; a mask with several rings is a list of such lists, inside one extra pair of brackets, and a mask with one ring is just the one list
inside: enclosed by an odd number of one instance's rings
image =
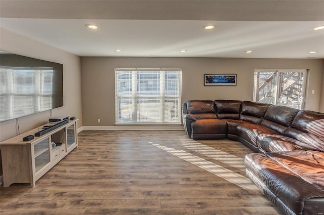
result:
[(217, 119), (215, 104), (210, 100), (187, 101), (187, 113), (196, 119)]

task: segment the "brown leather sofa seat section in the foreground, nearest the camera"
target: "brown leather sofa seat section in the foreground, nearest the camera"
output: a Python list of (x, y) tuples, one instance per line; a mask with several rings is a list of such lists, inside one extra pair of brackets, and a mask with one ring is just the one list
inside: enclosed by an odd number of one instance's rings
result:
[[(247, 176), (271, 200), (293, 214), (321, 214), (324, 208), (324, 153), (287, 151), (245, 157)], [(280, 201), (278, 201), (280, 199)]]

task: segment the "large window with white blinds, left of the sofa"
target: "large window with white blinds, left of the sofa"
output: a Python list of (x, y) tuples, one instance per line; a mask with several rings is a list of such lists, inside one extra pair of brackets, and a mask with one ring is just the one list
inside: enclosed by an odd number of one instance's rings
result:
[(116, 123), (181, 123), (181, 69), (115, 69)]

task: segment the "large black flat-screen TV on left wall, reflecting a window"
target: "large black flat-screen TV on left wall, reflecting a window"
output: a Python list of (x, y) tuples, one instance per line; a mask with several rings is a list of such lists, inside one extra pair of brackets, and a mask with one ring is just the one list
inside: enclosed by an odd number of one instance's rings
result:
[(63, 106), (63, 64), (0, 51), (0, 121)]

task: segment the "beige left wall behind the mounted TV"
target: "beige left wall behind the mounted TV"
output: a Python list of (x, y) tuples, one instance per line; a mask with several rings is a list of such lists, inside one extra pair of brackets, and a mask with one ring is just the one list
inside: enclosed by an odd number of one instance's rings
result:
[[(0, 33), (2, 51), (63, 64), (64, 106), (52, 110), (52, 116), (75, 116), (79, 118), (78, 127), (82, 126), (80, 57), (3, 28)], [(49, 118), (50, 111), (20, 117), (20, 133), (46, 123)], [(16, 135), (16, 119), (0, 122), (0, 141)]]

